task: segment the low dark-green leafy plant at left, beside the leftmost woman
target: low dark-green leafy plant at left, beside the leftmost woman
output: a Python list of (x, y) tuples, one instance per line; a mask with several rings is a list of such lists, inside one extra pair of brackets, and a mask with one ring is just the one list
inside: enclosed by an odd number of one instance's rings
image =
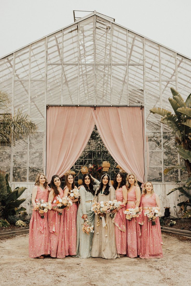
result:
[[(11, 187), (9, 186), (8, 182), (8, 176), (9, 174), (4, 174), (4, 172), (0, 172), (0, 176), (4, 177), (4, 187), (0, 187), (0, 192), (1, 190), (6, 190), (6, 192), (1, 195), (0, 193), (0, 208), (1, 208), (1, 217), (2, 218), (7, 218), (9, 215), (15, 215), (17, 212), (26, 210), (24, 207), (19, 206), (25, 201), (25, 198), (18, 199), (21, 194), (26, 190), (26, 187), (17, 187), (13, 191), (11, 190)], [(1, 184), (3, 180), (1, 180)]]

